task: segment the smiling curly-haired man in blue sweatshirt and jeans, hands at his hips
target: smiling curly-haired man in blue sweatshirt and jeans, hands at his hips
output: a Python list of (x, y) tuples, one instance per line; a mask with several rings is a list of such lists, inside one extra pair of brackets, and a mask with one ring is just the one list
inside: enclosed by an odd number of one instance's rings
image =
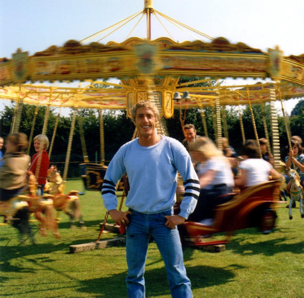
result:
[[(145, 297), (144, 270), (150, 234), (164, 260), (172, 297), (192, 297), (190, 280), (176, 225), (182, 224), (196, 206), (199, 182), (190, 156), (180, 142), (156, 132), (159, 113), (149, 101), (132, 108), (138, 138), (124, 144), (110, 162), (103, 187), (104, 205), (118, 225), (126, 228), (128, 296)], [(185, 194), (180, 214), (173, 215), (177, 171), (184, 181)], [(126, 172), (130, 191), (127, 211), (116, 209), (115, 185)]]

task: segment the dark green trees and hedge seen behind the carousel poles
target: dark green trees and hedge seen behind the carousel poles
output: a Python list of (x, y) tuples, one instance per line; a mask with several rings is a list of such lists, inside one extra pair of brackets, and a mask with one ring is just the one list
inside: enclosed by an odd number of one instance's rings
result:
[[(181, 82), (185, 78), (181, 79)], [(189, 78), (187, 78), (189, 79)], [(195, 80), (198, 78), (195, 78)], [(194, 79), (193, 79), (194, 80)], [(33, 114), (35, 112), (35, 106), (23, 105), (22, 109), (22, 120), (20, 123), (20, 132), (25, 133), (27, 136), (30, 135), (30, 130), (32, 126)], [(244, 124), (245, 138), (255, 139), (252, 119), (250, 114), (249, 106), (243, 108), (242, 119)], [(264, 125), (261, 117), (261, 106), (260, 104), (252, 105), (257, 134), (259, 138), (265, 137)], [(10, 132), (11, 123), (13, 121), (13, 114), (15, 110), (15, 104), (11, 103), (0, 111), (0, 136), (7, 136)], [(215, 131), (214, 131), (214, 108), (205, 107), (202, 109), (206, 115), (207, 131), (208, 136), (215, 141)], [(267, 123), (267, 131), (270, 140), (272, 140), (272, 129), (271, 129), (271, 113), (269, 104), (264, 104), (265, 117)], [(35, 124), (35, 129), (33, 136), (41, 134), (42, 127), (44, 123), (46, 107), (39, 106), (37, 120)], [(184, 123), (193, 123), (196, 127), (197, 135), (204, 136), (204, 127), (202, 124), (201, 110), (198, 108), (190, 108), (185, 110), (175, 110), (174, 117), (170, 119), (164, 119), (167, 125), (168, 133), (171, 137), (182, 141), (184, 139), (183, 131), (180, 122), (180, 112), (182, 119), (185, 120)], [(237, 151), (240, 152), (242, 146), (242, 134), (239, 119), (239, 109), (237, 107), (225, 107), (225, 113), (227, 115), (227, 126), (228, 126), (228, 139), (230, 145)], [(297, 135), (303, 138), (302, 127), (304, 127), (304, 110), (303, 107), (297, 107), (297, 112), (292, 111), (293, 116), (289, 117), (290, 130), (292, 135)], [(69, 117), (60, 116), (58, 127), (54, 139), (54, 145), (51, 155), (51, 163), (55, 163), (60, 169), (61, 173), (64, 168), (67, 143), (70, 136), (71, 112)], [(82, 120), (82, 126), (85, 136), (85, 144), (90, 162), (100, 161), (100, 133), (99, 133), (99, 115), (96, 110), (92, 109), (79, 109), (77, 115), (80, 115)], [(49, 112), (49, 120), (47, 127), (47, 136), (51, 142), (54, 126), (57, 118), (57, 113), (51, 108)], [(116, 151), (121, 145), (131, 140), (134, 132), (134, 125), (129, 118), (126, 117), (126, 111), (114, 111), (114, 110), (104, 110), (104, 134), (105, 134), (105, 159), (109, 162)], [(282, 116), (278, 117), (279, 125), (279, 138), (281, 146), (281, 158), (285, 156), (284, 149), (287, 146), (287, 135), (285, 129), (285, 123)], [(223, 123), (222, 123), (223, 128)], [(222, 131), (222, 135), (223, 131)], [(32, 144), (30, 144), (30, 155), (34, 153)], [(80, 168), (79, 163), (83, 162), (83, 153), (81, 147), (81, 139), (79, 132), (79, 122), (76, 120), (75, 131), (73, 135), (72, 142), (72, 152), (71, 152), (71, 163), (69, 165), (68, 177), (79, 177)]]

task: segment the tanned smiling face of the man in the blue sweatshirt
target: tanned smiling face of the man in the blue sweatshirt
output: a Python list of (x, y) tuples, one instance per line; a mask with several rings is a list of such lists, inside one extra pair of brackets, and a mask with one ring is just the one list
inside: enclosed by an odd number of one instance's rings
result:
[(155, 134), (157, 120), (154, 112), (149, 108), (139, 108), (136, 112), (135, 125), (140, 137), (148, 137)]

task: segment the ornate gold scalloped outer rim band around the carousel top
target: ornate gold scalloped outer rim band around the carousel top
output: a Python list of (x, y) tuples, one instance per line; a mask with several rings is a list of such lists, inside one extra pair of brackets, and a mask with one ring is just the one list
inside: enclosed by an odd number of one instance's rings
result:
[(110, 41), (107, 45), (69, 40), (63, 47), (52, 46), (32, 56), (18, 50), (12, 59), (3, 58), (0, 86), (139, 75), (271, 77), (304, 85), (303, 60), (303, 55), (283, 57), (278, 48), (263, 53), (242, 42), (230, 44), (223, 37), (211, 43), (178, 43), (167, 37), (152, 41), (131, 37), (121, 44)]

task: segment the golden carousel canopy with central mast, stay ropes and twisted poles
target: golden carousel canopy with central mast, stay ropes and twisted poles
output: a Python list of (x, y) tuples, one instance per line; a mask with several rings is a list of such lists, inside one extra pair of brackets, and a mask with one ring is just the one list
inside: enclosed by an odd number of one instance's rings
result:
[[(140, 19), (144, 16), (147, 18), (146, 38), (130, 37), (121, 43), (110, 41), (106, 45), (98, 42), (101, 38), (88, 43), (92, 38), (110, 30), (112, 30), (109, 33), (111, 34), (139, 16)], [(152, 16), (159, 21), (162, 17), (183, 30), (189, 30), (209, 39), (209, 42), (202, 40), (176, 42), (168, 37), (151, 40)], [(182, 76), (201, 79), (181, 83)], [(250, 77), (269, 81), (251, 85), (221, 86), (220, 79), (231, 77)], [(108, 78), (116, 78), (119, 82), (108, 82), (106, 81)], [(218, 83), (213, 85), (210, 83), (211, 80), (216, 80)], [(50, 84), (43, 84), (45, 81), (49, 81)], [(58, 86), (54, 84), (55, 81), (62, 83)], [(79, 87), (61, 86), (71, 81), (79, 81)], [(202, 82), (205, 83), (205, 87), (195, 87), (195, 84)], [(107, 84), (110, 88), (96, 88), (96, 84)], [(153, 8), (152, 0), (144, 1), (142, 11), (80, 41), (69, 40), (63, 47), (51, 46), (32, 56), (18, 49), (12, 55), (12, 59), (0, 59), (0, 98), (16, 102), (11, 132), (18, 132), (23, 104), (47, 106), (43, 133), (46, 132), (50, 107), (69, 107), (74, 110), (63, 180), (66, 180), (69, 165), (77, 109), (98, 110), (102, 127), (104, 109), (124, 109), (130, 117), (131, 108), (141, 100), (153, 101), (162, 118), (172, 117), (175, 109), (182, 111), (198, 108), (203, 124), (206, 123), (204, 108), (213, 107), (215, 142), (219, 148), (222, 148), (222, 131), (225, 136), (227, 133), (225, 121), (221, 121), (221, 107), (239, 107), (242, 138), (245, 142), (240, 106), (249, 105), (255, 138), (258, 140), (251, 105), (258, 103), (263, 106), (269, 103), (272, 140), (269, 140), (266, 132), (265, 136), (268, 144), (272, 144), (268, 151), (273, 152), (275, 167), (279, 168), (280, 144), (277, 110), (274, 103), (276, 101), (281, 103), (290, 145), (290, 132), (283, 101), (302, 97), (304, 97), (304, 54), (285, 57), (278, 46), (264, 53), (243, 42), (230, 44), (224, 37), (213, 38), (157, 11)], [(224, 123), (224, 127), (221, 122)], [(168, 134), (164, 121), (160, 121), (157, 129), (161, 134)], [(208, 136), (206, 125), (204, 131)], [(54, 134), (55, 132), (56, 129)], [(134, 132), (135, 136), (136, 132)], [(99, 166), (103, 167), (105, 149), (102, 129), (100, 129), (100, 145), (102, 161)], [(82, 148), (84, 162), (89, 164), (83, 138)], [(98, 185), (96, 188), (99, 189)]]

